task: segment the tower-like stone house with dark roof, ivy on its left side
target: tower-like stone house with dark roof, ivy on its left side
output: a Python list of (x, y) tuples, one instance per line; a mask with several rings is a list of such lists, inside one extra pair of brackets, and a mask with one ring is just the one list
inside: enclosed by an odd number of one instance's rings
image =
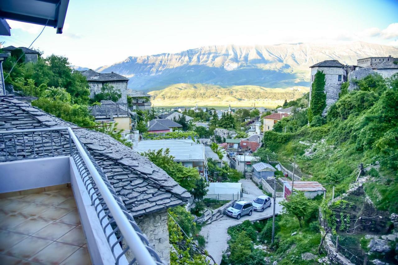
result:
[(312, 83), (314, 82), (316, 72), (323, 71), (325, 74), (326, 107), (322, 113), (322, 115), (325, 115), (329, 107), (339, 99), (341, 84), (347, 81), (346, 67), (338, 60), (326, 60), (314, 64), (313, 66), (310, 66), (310, 68), (310, 98), (312, 93)]

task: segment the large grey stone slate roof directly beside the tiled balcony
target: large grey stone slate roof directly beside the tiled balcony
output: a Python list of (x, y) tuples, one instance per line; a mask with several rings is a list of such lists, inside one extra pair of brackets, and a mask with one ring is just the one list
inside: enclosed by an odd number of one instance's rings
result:
[[(12, 96), (0, 96), (0, 130), (64, 126), (77, 128)], [(75, 129), (74, 133), (134, 217), (185, 204), (191, 197), (164, 170), (109, 135), (87, 129)], [(2, 148), (0, 145), (0, 154), (4, 155)]]

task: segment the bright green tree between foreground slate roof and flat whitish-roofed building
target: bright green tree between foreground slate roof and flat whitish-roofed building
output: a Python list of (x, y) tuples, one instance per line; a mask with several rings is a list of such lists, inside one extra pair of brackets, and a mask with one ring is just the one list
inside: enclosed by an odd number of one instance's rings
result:
[(180, 163), (174, 162), (174, 157), (170, 155), (168, 148), (164, 152), (163, 149), (158, 151), (148, 150), (141, 153), (141, 155), (148, 157), (151, 162), (166, 171), (170, 177), (188, 191), (192, 191), (195, 188), (196, 180), (200, 178), (197, 168), (185, 167)]

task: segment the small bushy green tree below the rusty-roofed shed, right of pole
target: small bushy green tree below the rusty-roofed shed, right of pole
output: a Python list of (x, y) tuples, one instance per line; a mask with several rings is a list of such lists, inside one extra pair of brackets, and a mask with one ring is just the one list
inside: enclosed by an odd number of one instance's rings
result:
[(316, 209), (315, 203), (311, 199), (307, 199), (302, 192), (289, 196), (288, 200), (281, 201), (279, 204), (283, 206), (284, 211), (297, 218), (300, 227)]

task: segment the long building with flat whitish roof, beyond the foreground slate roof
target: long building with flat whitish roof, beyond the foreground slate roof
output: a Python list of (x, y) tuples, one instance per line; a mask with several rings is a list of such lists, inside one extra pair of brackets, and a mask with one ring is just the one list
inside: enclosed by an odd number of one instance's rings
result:
[(170, 150), (170, 155), (174, 157), (174, 162), (180, 162), (183, 166), (196, 167), (203, 175), (205, 168), (205, 147), (195, 143), (191, 139), (162, 139), (144, 140), (133, 142), (133, 150), (138, 153), (148, 150), (158, 151), (159, 149)]

